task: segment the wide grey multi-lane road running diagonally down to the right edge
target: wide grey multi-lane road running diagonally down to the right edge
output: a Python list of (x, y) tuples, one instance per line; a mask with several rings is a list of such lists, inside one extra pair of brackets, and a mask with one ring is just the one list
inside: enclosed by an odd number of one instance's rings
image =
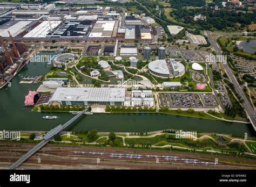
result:
[[(222, 55), (222, 50), (220, 48), (220, 46), (218, 45), (217, 39), (218, 37), (212, 37), (211, 32), (210, 31), (205, 31), (205, 33), (208, 35), (208, 40), (210, 41), (212, 47), (214, 48), (214, 51), (216, 52), (217, 55)], [(251, 124), (254, 128), (254, 130), (256, 131), (256, 114), (255, 111), (251, 105), (251, 103), (248, 101), (247, 97), (245, 96), (244, 91), (242, 90), (242, 88), (240, 87), (240, 85), (237, 82), (237, 79), (235, 78), (232, 70), (230, 69), (230, 67), (228, 66), (228, 63), (223, 63), (223, 66), (225, 68), (226, 74), (227, 76), (230, 78), (231, 82), (234, 84), (235, 87), (235, 91), (238, 93), (238, 95), (244, 99), (244, 103), (242, 103), (242, 105), (245, 107), (245, 111), (247, 114), (247, 117), (250, 119)]]

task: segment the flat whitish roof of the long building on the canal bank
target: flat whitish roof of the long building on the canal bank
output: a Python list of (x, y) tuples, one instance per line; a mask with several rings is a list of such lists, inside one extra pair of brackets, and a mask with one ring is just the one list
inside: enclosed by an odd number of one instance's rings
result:
[(57, 88), (51, 101), (124, 102), (125, 88)]

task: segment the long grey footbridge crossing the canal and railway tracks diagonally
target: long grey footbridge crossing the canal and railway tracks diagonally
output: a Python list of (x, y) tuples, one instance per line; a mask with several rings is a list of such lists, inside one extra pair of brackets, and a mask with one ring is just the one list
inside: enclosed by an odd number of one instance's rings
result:
[(58, 125), (57, 127), (53, 128), (51, 131), (49, 131), (48, 133), (46, 133), (44, 135), (44, 139), (39, 142), (35, 147), (33, 147), (32, 149), (29, 150), (28, 153), (26, 153), (25, 155), (23, 155), (19, 160), (17, 160), (15, 163), (13, 163), (9, 169), (15, 169), (17, 168), (19, 165), (21, 165), (26, 159), (28, 159), (30, 156), (32, 156), (33, 154), (35, 154), (39, 149), (41, 149), (44, 145), (46, 145), (46, 143), (48, 143), (54, 135), (59, 134), (60, 132), (62, 132), (66, 127), (68, 127), (69, 125), (71, 125), (75, 120), (77, 120), (79, 117), (81, 117), (83, 114), (85, 114), (85, 112), (88, 109), (86, 108), (85, 110), (83, 110), (82, 112), (78, 113), (75, 117), (71, 118), (68, 122), (66, 122), (64, 125)]

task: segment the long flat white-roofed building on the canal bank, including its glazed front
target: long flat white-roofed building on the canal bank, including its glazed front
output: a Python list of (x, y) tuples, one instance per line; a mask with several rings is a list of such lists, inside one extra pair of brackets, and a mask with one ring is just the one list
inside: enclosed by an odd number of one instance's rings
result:
[(51, 102), (63, 105), (124, 105), (125, 88), (57, 88)]

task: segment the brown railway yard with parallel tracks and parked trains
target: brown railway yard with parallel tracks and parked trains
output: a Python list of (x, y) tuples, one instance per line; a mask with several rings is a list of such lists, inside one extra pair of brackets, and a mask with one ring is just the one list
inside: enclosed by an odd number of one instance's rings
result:
[[(33, 144), (30, 143), (11, 143), (8, 145), (0, 143), (0, 167), (10, 166), (31, 147), (33, 147)], [(256, 169), (256, 161), (254, 160), (237, 157), (233, 159), (232, 157), (232, 160), (240, 160), (247, 164), (227, 162), (214, 164), (215, 157), (220, 160), (231, 160), (229, 156), (168, 152), (164, 150), (47, 145), (26, 160), (19, 168)], [(38, 163), (38, 159), (40, 159), (40, 163)]]

